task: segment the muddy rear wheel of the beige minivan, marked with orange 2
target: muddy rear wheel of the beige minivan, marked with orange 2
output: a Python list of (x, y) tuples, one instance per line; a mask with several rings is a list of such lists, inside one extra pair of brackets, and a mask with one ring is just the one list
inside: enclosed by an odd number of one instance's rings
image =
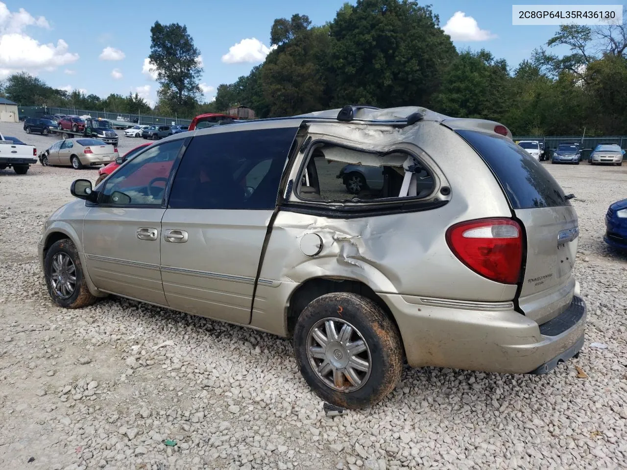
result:
[(323, 400), (347, 409), (376, 404), (401, 378), (398, 328), (374, 301), (329, 293), (309, 303), (294, 329), (304, 379)]

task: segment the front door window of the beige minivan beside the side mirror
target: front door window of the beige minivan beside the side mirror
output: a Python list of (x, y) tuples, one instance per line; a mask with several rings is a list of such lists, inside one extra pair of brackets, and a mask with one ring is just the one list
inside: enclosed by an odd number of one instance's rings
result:
[(129, 160), (107, 180), (100, 203), (161, 206), (181, 145), (180, 139), (155, 145)]

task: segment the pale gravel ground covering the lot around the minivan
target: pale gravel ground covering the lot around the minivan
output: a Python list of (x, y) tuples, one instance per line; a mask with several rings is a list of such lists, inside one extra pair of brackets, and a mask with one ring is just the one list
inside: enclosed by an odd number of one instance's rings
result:
[[(121, 137), (120, 152), (139, 142)], [(97, 171), (0, 171), (0, 468), (626, 468), (627, 256), (602, 235), (627, 166), (547, 168), (576, 194), (581, 357), (544, 376), (406, 369), (381, 404), (334, 418), (287, 340), (119, 298), (54, 306), (41, 224)]]

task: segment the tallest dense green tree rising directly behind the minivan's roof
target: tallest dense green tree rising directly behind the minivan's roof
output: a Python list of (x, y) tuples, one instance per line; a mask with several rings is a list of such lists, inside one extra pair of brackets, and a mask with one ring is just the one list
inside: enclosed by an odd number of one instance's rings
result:
[(410, 0), (357, 0), (330, 25), (333, 103), (430, 105), (457, 53), (440, 19)]

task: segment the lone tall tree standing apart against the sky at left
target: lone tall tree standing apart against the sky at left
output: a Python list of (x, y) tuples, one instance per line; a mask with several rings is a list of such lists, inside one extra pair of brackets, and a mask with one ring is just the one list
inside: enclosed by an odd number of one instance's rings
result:
[(198, 78), (203, 73), (199, 57), (200, 51), (187, 33), (187, 26), (155, 21), (150, 28), (149, 58), (162, 85), (160, 100), (167, 100), (169, 107), (180, 114), (191, 112), (198, 105)]

